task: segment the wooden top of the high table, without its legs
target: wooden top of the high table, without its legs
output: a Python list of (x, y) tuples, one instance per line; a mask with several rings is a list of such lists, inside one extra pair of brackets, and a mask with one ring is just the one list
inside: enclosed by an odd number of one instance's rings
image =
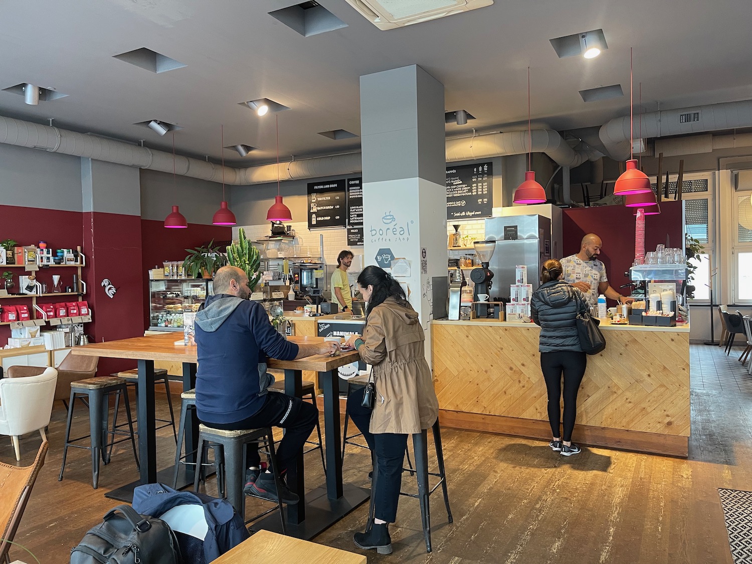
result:
[[(180, 340), (180, 333), (165, 332), (164, 335), (147, 335), (146, 337), (120, 339), (120, 341), (87, 344), (83, 347), (73, 347), (71, 352), (84, 356), (104, 356), (116, 359), (196, 362), (196, 346), (186, 347), (183, 344), (174, 344), (178, 340)], [(289, 337), (288, 340), (293, 343), (320, 343), (323, 341), (323, 337)], [(271, 359), (268, 365), (270, 368), (326, 372), (358, 359), (358, 353), (353, 350), (349, 353), (339, 353), (337, 356), (314, 355), (298, 360)]]

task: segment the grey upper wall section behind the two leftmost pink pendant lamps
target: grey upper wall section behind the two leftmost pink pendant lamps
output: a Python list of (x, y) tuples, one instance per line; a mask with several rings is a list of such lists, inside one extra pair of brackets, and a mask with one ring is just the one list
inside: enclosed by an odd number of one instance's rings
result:
[[(232, 204), (232, 190), (225, 186), (229, 207)], [(172, 206), (180, 206), (180, 213), (188, 223), (211, 224), (214, 212), (220, 209), (222, 184), (158, 171), (141, 170), (141, 217), (144, 220), (164, 221)], [(238, 224), (244, 225), (238, 217)]]

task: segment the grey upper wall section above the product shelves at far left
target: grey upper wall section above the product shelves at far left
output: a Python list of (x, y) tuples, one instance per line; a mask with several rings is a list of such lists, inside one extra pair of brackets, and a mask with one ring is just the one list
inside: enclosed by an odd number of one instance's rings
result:
[(81, 159), (0, 144), (0, 203), (82, 211)]

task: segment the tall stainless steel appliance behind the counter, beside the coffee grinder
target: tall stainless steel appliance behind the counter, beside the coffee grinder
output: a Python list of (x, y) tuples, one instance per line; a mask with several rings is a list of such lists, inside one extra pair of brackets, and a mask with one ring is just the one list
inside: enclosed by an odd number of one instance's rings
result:
[(492, 217), (486, 220), (486, 238), (496, 239), (488, 264), (494, 274), (494, 298), (510, 297), (517, 265), (527, 266), (527, 283), (533, 290), (540, 286), (541, 265), (552, 258), (550, 219), (541, 215)]

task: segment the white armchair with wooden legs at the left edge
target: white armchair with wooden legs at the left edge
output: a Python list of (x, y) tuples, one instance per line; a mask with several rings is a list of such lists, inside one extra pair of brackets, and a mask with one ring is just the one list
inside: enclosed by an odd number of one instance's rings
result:
[(57, 371), (47, 368), (38, 376), (0, 380), (0, 435), (10, 435), (20, 460), (18, 438), (38, 431), (47, 440), (44, 427), (50, 424)]

